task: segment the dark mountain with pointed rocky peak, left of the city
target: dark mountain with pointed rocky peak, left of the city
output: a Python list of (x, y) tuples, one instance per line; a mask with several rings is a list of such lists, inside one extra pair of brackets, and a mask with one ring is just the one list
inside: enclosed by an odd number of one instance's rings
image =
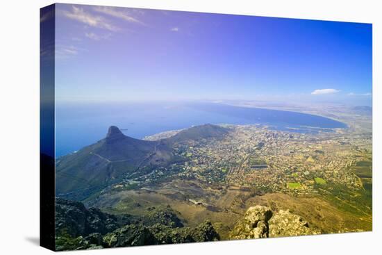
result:
[(56, 161), (56, 195), (85, 199), (128, 174), (147, 174), (181, 157), (164, 141), (145, 141), (110, 126), (106, 138)]

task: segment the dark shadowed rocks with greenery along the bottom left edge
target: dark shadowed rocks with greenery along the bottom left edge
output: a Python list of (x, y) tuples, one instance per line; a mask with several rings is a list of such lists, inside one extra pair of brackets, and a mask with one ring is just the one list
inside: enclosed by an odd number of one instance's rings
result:
[(171, 207), (147, 208), (141, 217), (110, 215), (81, 202), (56, 199), (56, 250), (102, 249), (219, 240), (209, 221), (184, 227)]

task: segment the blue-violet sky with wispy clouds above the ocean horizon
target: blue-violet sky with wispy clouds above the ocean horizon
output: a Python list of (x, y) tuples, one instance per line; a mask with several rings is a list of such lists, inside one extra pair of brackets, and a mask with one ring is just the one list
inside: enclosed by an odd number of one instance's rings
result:
[(55, 57), (58, 102), (372, 103), (371, 24), (56, 4)]

